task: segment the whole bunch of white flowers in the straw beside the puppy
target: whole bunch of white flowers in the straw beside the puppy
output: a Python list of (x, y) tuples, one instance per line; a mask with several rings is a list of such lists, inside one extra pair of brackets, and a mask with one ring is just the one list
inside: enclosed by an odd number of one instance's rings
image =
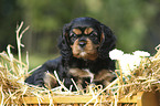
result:
[(143, 51), (136, 51), (132, 54), (124, 54), (122, 51), (117, 49), (109, 52), (109, 57), (111, 60), (118, 60), (119, 66), (126, 75), (129, 75), (130, 71), (137, 68), (145, 56), (150, 56), (150, 54)]

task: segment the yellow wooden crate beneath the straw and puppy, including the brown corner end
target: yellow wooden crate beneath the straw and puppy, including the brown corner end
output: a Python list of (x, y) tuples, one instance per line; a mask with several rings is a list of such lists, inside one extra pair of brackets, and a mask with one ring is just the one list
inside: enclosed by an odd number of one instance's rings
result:
[[(53, 103), (54, 106), (83, 106), (89, 102), (92, 96), (54, 96)], [(25, 103), (29, 106), (39, 106), (39, 100), (36, 97), (24, 97)], [(41, 102), (41, 106), (49, 106), (50, 98), (44, 97)], [(88, 106), (93, 106), (95, 100), (90, 102)], [(107, 106), (107, 103), (102, 103), (102, 99), (98, 99), (96, 106)], [(126, 97), (118, 102), (118, 106), (160, 106), (160, 93), (152, 92), (140, 92), (136, 96)]]

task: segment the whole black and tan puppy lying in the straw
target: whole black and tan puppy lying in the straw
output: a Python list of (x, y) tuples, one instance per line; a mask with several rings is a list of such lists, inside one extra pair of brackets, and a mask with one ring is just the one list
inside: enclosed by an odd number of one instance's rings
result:
[(60, 57), (47, 61), (25, 82), (39, 86), (55, 87), (57, 82), (47, 75), (56, 71), (68, 88), (73, 78), (79, 88), (89, 83), (107, 85), (114, 78), (115, 62), (109, 51), (115, 47), (111, 30), (93, 18), (77, 18), (65, 24), (58, 40)]

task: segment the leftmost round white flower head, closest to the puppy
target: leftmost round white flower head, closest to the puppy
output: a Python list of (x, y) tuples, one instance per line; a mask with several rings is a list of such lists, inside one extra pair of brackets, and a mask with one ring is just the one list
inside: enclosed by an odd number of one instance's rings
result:
[(124, 55), (124, 52), (120, 51), (120, 50), (117, 50), (117, 49), (115, 49), (115, 50), (113, 50), (113, 51), (109, 52), (109, 57), (111, 60), (120, 60), (120, 57), (122, 55)]

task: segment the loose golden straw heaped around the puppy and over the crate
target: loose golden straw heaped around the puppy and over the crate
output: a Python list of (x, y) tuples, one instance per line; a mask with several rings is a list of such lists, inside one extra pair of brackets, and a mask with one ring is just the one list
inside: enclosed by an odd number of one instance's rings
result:
[[(97, 97), (105, 98), (104, 102), (110, 102), (113, 105), (122, 97), (130, 97), (138, 92), (156, 92), (160, 89), (160, 45), (157, 46), (157, 54), (151, 57), (147, 57), (141, 62), (140, 66), (131, 72), (130, 76), (124, 75), (121, 70), (117, 70), (120, 75), (117, 74), (117, 78), (110, 83), (106, 88), (90, 85), (88, 86), (87, 93), (79, 91), (73, 81), (74, 85), (67, 89), (63, 82), (58, 80), (58, 75), (54, 72), (55, 77), (61, 86), (53, 89), (28, 85), (24, 83), (25, 77), (29, 73), (29, 56), (26, 53), (26, 62), (23, 63), (21, 60), (21, 39), (23, 33), (29, 29), (25, 28), (21, 31), (23, 22), (17, 28), (17, 41), (18, 41), (18, 56), (17, 60), (11, 53), (11, 45), (8, 45), (7, 52), (0, 53), (0, 103), (2, 105), (8, 104), (24, 104), (23, 97), (35, 96), (39, 99), (39, 104), (43, 97), (49, 97), (50, 105), (53, 104), (52, 98), (56, 95), (92, 95), (93, 98), (85, 104), (88, 105), (92, 100)], [(21, 33), (20, 33), (21, 32)], [(77, 88), (76, 92), (72, 92), (72, 86)], [(63, 91), (62, 91), (63, 89)], [(97, 104), (97, 100), (95, 105)]]

